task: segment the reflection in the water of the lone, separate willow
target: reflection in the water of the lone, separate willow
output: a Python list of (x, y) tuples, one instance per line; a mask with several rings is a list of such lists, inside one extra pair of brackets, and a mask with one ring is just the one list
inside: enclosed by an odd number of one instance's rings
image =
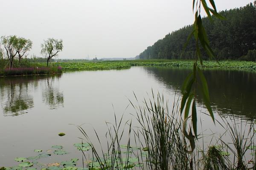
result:
[(47, 77), (47, 85), (43, 91), (43, 102), (49, 105), (49, 109), (64, 107), (63, 92), (59, 91), (55, 86), (55, 82), (59, 81), (59, 77)]

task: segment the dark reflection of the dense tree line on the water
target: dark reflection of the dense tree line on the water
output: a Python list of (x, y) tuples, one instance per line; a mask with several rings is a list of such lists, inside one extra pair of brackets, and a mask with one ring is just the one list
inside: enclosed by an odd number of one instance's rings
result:
[[(169, 89), (180, 88), (183, 80), (192, 71), (189, 68), (145, 68), (148, 74)], [(256, 116), (256, 72), (221, 69), (205, 69), (212, 107), (220, 114), (236, 114), (252, 118)], [(202, 96), (198, 96), (203, 106)]]

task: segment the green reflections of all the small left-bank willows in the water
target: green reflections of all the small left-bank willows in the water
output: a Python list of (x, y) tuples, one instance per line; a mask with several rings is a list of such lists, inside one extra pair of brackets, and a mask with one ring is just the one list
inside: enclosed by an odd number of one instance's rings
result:
[[(4, 116), (17, 116), (28, 113), (34, 107), (35, 93), (40, 83), (47, 82), (42, 99), (49, 108), (56, 109), (64, 106), (63, 92), (59, 91), (54, 81), (58, 80), (61, 74), (53, 76), (28, 76), (28, 77), (2, 77), (0, 78), (0, 104)], [(58, 81), (57, 81), (58, 82)]]

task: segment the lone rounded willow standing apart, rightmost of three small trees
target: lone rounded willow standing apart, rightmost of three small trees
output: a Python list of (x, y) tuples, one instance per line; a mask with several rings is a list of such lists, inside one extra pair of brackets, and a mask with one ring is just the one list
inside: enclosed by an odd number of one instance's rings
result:
[(62, 48), (63, 48), (62, 40), (48, 38), (48, 40), (44, 40), (44, 43), (41, 44), (41, 47), (42, 47), (41, 54), (47, 57), (47, 67), (48, 67), (49, 60), (52, 57), (58, 56), (58, 52), (62, 51)]

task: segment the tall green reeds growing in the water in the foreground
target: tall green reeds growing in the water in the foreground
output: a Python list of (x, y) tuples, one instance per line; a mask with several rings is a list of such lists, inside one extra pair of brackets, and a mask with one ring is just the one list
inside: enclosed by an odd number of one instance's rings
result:
[[(124, 122), (123, 117), (118, 121), (115, 115), (115, 122), (107, 123), (106, 140), (102, 141), (95, 130), (100, 148), (92, 144), (86, 131), (78, 126), (84, 140), (92, 147), (92, 161), (84, 164), (85, 167), (91, 170), (256, 169), (254, 120), (243, 122), (234, 116), (221, 117), (216, 126), (223, 128), (224, 133), (215, 138), (214, 134), (206, 136), (202, 131), (195, 140), (196, 149), (188, 153), (190, 143), (183, 136), (184, 121), (178, 102), (169, 111), (163, 96), (153, 94), (152, 99), (144, 99), (143, 105), (139, 102), (136, 105), (131, 102), (131, 105), (139, 126), (133, 127), (132, 121)], [(223, 136), (230, 141), (225, 141)], [(122, 145), (124, 140), (126, 144)], [(84, 158), (88, 159), (85, 153)]]

